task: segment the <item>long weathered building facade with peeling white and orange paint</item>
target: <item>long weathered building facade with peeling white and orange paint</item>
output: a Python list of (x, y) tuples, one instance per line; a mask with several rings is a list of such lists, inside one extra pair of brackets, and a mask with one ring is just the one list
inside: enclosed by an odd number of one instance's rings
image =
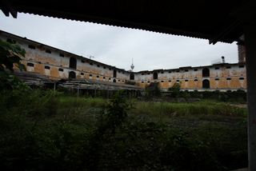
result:
[(142, 88), (150, 85), (150, 82), (159, 82), (159, 88), (163, 91), (175, 82), (179, 82), (182, 90), (187, 91), (234, 91), (238, 89), (246, 91), (246, 64), (244, 62), (132, 72), (4, 31), (0, 31), (0, 38), (3, 41), (17, 43), (26, 50), (26, 58), (22, 59), (22, 64), (26, 66), (27, 71), (43, 74), (51, 80), (88, 78), (122, 84), (129, 82)]

